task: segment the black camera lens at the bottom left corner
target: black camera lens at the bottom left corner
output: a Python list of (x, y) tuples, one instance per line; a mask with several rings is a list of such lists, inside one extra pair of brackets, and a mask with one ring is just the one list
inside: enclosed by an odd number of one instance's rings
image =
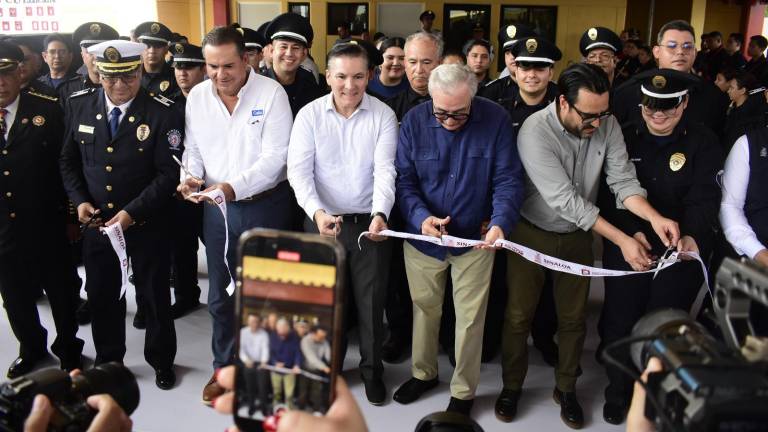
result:
[(72, 379), (75, 392), (83, 398), (107, 393), (131, 415), (139, 406), (139, 385), (133, 373), (120, 363), (104, 363)]

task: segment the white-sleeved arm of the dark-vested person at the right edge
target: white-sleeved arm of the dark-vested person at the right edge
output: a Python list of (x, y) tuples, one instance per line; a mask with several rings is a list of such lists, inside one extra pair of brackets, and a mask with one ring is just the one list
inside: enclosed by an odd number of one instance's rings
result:
[(723, 172), (723, 197), (720, 206), (720, 223), (725, 238), (736, 252), (754, 259), (766, 247), (758, 240), (744, 214), (749, 184), (749, 142), (742, 136), (733, 144)]

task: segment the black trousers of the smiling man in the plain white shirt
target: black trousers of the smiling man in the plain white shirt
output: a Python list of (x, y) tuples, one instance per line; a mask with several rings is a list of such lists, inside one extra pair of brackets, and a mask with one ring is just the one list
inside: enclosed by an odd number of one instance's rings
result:
[[(384, 343), (384, 304), (392, 255), (389, 240), (374, 242), (363, 238), (360, 241), (362, 248), (358, 248), (357, 238), (368, 230), (369, 225), (367, 214), (345, 216), (341, 234), (337, 237), (347, 252), (346, 327), (353, 322), (351, 318), (356, 319), (360, 334), (360, 374), (366, 380), (381, 378), (384, 372), (381, 345)], [(304, 229), (318, 232), (317, 225), (309, 218), (304, 222)], [(346, 347), (346, 341), (344, 345)]]

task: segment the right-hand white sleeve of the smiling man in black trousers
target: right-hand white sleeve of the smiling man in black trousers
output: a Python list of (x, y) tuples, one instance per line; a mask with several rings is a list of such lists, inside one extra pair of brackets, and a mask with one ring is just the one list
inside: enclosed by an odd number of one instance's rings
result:
[(373, 153), (373, 202), (371, 214), (389, 212), (395, 204), (395, 152), (397, 151), (397, 117), (384, 107), (381, 127)]

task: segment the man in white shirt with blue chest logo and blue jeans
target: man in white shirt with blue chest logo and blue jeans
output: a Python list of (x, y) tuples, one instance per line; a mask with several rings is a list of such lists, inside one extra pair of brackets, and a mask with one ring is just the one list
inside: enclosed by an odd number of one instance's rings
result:
[[(203, 214), (213, 367), (220, 368), (235, 356), (234, 298), (226, 288), (235, 277), (237, 240), (254, 227), (290, 227), (292, 198), (285, 160), (292, 116), (280, 84), (248, 66), (237, 30), (211, 30), (203, 39), (203, 56), (210, 79), (190, 91), (186, 107), (184, 164), (193, 177), (182, 172), (179, 191), (201, 202), (190, 194), (205, 185), (204, 192), (219, 189), (226, 199), (228, 232), (217, 206), (205, 206)], [(214, 375), (203, 390), (203, 402), (223, 393)]]

